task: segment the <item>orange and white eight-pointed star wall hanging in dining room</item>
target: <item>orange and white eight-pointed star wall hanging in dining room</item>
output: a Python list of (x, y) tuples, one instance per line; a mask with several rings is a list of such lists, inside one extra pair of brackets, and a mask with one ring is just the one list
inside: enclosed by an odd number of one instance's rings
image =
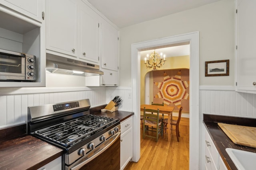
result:
[(178, 108), (181, 107), (181, 100), (188, 99), (189, 94), (185, 91), (189, 86), (189, 81), (181, 81), (179, 71), (173, 78), (164, 72), (164, 82), (154, 82), (160, 92), (154, 98), (164, 98), (164, 105), (173, 103)]

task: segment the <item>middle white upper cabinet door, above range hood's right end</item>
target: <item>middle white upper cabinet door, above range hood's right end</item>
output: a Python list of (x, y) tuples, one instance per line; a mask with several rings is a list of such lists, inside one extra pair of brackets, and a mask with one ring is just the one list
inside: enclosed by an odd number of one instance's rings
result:
[(99, 63), (98, 55), (98, 15), (83, 2), (78, 14), (79, 58)]

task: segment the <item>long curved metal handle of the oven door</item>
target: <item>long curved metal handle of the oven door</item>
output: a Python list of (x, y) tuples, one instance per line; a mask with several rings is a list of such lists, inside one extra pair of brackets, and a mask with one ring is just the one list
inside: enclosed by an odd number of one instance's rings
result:
[[(114, 136), (111, 137), (112, 141), (110, 141), (110, 143), (108, 143), (108, 145), (106, 145), (104, 148), (102, 148), (100, 151), (98, 151), (96, 154), (92, 155), (90, 158), (88, 158), (85, 161), (82, 161), (81, 163), (79, 163), (78, 165), (74, 165), (74, 167), (68, 168), (69, 170), (79, 170), (80, 168), (82, 168), (82, 166), (84, 166), (85, 164), (87, 164), (88, 162), (90, 162), (91, 160), (93, 160), (95, 157), (97, 157), (98, 155), (100, 155), (102, 152), (104, 152), (105, 150), (107, 150), (120, 136), (121, 132), (119, 131), (118, 133), (116, 133)], [(110, 140), (111, 140), (110, 139)], [(93, 151), (93, 150), (92, 150)]]

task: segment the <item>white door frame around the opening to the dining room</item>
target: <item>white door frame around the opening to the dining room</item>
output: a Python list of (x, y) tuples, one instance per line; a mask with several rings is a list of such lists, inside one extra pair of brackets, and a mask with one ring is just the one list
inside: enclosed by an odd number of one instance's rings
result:
[(140, 159), (140, 51), (150, 47), (170, 45), (176, 43), (190, 43), (190, 70), (189, 70), (189, 169), (199, 169), (199, 32), (186, 33), (172, 37), (155, 39), (132, 44), (132, 110), (134, 111), (133, 126), (133, 158), (134, 162)]

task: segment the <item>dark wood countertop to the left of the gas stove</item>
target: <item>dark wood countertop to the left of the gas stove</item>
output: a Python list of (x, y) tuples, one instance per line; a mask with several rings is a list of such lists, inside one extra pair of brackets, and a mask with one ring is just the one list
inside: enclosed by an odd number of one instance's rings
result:
[[(22, 129), (24, 125), (19, 125)], [(12, 131), (11, 128), (6, 129)], [(6, 170), (36, 170), (63, 154), (63, 150), (50, 145), (31, 135), (22, 134), (18, 137), (10, 139), (2, 129), (0, 132), (0, 169)]]

